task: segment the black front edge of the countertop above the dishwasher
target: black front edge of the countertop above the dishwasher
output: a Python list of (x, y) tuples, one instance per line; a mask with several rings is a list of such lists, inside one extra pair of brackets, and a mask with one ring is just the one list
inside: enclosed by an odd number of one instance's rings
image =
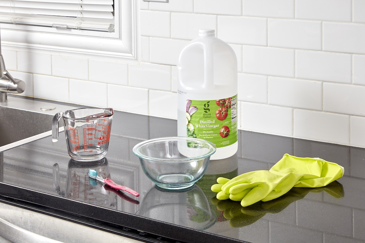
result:
[(147, 243), (243, 242), (4, 183), (0, 202)]

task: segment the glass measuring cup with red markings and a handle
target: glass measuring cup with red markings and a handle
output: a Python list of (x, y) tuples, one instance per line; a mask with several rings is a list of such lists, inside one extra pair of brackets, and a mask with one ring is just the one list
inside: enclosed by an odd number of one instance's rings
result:
[(58, 121), (64, 121), (69, 156), (76, 161), (97, 161), (108, 152), (112, 108), (81, 108), (65, 110), (54, 115), (52, 141), (58, 141)]

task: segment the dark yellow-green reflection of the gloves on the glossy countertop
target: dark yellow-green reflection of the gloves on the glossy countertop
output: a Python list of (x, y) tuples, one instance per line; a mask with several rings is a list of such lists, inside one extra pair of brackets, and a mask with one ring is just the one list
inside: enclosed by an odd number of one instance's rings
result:
[(303, 199), (309, 192), (326, 192), (329, 195), (341, 198), (344, 196), (343, 187), (337, 181), (333, 181), (325, 187), (318, 188), (292, 188), (283, 196), (271, 201), (259, 201), (247, 207), (242, 207), (241, 202), (230, 199), (219, 200), (216, 197), (212, 203), (219, 211), (223, 211), (223, 216), (230, 220), (230, 225), (234, 228), (248, 226), (261, 219), (266, 213), (278, 213), (287, 208), (291, 203)]

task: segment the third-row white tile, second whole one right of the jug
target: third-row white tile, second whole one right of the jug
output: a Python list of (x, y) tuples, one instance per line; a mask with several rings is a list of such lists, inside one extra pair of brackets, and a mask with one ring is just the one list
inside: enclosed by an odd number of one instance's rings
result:
[(296, 51), (296, 78), (351, 83), (351, 55)]

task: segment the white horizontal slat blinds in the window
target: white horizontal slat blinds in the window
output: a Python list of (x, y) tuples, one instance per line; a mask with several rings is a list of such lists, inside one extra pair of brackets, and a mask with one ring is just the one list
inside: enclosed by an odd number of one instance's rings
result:
[(0, 0), (0, 22), (114, 31), (113, 0)]

